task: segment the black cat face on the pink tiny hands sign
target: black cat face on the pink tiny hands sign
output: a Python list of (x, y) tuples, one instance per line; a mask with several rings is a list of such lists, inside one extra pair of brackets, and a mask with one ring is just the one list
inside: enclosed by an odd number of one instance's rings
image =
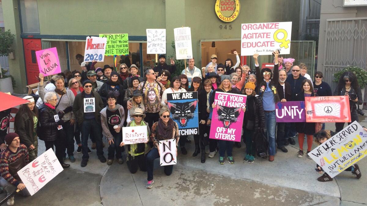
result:
[(226, 107), (217, 104), (217, 119), (223, 123), (224, 128), (229, 128), (230, 124), (237, 122), (239, 119), (241, 109), (241, 107)]

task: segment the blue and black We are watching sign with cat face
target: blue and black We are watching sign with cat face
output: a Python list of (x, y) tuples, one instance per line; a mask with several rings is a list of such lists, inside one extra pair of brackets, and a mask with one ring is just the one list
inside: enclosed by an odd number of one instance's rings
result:
[(180, 135), (199, 135), (197, 92), (168, 93), (167, 102)]

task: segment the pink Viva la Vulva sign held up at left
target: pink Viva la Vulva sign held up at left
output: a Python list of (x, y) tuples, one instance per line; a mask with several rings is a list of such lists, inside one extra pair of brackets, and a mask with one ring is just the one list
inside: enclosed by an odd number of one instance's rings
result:
[(61, 72), (56, 47), (36, 51), (36, 57), (40, 73), (45, 77)]

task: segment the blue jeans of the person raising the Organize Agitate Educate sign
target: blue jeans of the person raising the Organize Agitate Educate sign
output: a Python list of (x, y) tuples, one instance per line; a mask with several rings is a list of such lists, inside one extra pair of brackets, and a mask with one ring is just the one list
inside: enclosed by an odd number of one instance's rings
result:
[(269, 155), (275, 155), (275, 111), (265, 112), (265, 137), (269, 141)]

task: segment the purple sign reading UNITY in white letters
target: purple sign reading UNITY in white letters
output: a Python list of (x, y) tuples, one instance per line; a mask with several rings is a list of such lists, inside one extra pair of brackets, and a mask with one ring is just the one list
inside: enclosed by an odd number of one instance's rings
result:
[(306, 122), (305, 102), (278, 102), (275, 114), (276, 122)]

